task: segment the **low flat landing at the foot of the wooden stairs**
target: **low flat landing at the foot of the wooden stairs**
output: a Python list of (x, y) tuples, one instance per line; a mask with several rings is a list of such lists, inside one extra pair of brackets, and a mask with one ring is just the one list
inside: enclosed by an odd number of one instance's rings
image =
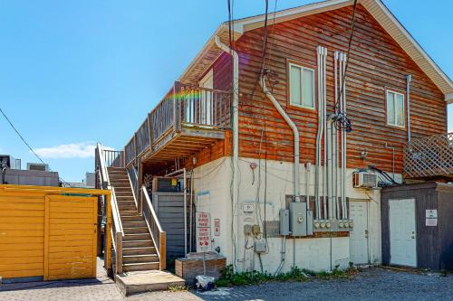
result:
[(124, 296), (164, 290), (169, 286), (184, 286), (186, 281), (174, 274), (161, 270), (126, 272), (116, 276), (116, 283)]

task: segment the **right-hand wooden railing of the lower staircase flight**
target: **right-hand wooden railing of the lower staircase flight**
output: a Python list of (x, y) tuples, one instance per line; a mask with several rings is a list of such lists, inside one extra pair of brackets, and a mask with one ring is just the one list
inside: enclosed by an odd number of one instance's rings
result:
[(160, 270), (162, 270), (165, 269), (167, 265), (167, 234), (164, 230), (162, 230), (162, 227), (160, 226), (158, 215), (154, 211), (154, 207), (152, 206), (151, 200), (149, 199), (149, 194), (146, 190), (146, 186), (143, 185), (141, 187), (141, 193), (143, 200), (143, 217), (145, 218), (149, 232), (151, 233), (152, 240), (154, 242), (154, 245), (156, 246), (156, 250), (159, 255), (159, 268)]

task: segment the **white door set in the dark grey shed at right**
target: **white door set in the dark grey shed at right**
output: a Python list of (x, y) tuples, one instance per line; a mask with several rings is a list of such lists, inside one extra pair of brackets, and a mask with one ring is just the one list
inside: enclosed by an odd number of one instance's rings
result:
[(415, 200), (389, 200), (390, 264), (417, 268)]

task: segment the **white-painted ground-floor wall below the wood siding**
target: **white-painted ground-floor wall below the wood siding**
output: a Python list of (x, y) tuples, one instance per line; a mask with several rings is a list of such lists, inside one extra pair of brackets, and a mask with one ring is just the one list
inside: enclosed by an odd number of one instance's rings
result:
[[(194, 190), (198, 196), (196, 206), (198, 212), (211, 215), (211, 234), (214, 240), (212, 249), (220, 248), (228, 263), (236, 258), (238, 270), (259, 270), (259, 260), (253, 249), (253, 239), (246, 240), (245, 224), (259, 224), (262, 221), (279, 221), (279, 210), (285, 206), (285, 196), (294, 194), (293, 164), (279, 161), (267, 161), (267, 189), (265, 197), (265, 160), (261, 160), (261, 189), (258, 202), (258, 168), (255, 171), (251, 163), (258, 165), (258, 160), (239, 159), (239, 203), (235, 208), (236, 235), (232, 235), (231, 205), (231, 158), (223, 157), (194, 170)], [(369, 202), (369, 252), (371, 263), (381, 263), (381, 193), (379, 190), (361, 190), (352, 188), (352, 172), (347, 170), (346, 196), (355, 200)], [(309, 193), (314, 194), (315, 168), (312, 165)], [(255, 173), (255, 180), (254, 180)], [(301, 165), (301, 194), (305, 194), (305, 169)], [(400, 179), (400, 175), (397, 175)], [(265, 205), (266, 202), (266, 205)], [(245, 203), (255, 203), (255, 212), (243, 212)], [(265, 214), (265, 217), (264, 217)], [(214, 235), (214, 220), (220, 219), (220, 235)], [(236, 242), (236, 248), (234, 245)], [(268, 238), (268, 252), (262, 254), (264, 270), (274, 273), (281, 263), (283, 238)], [(295, 258), (294, 258), (295, 243)], [(236, 252), (235, 252), (236, 249)], [(332, 249), (332, 252), (331, 252)], [(236, 253), (236, 256), (233, 254)], [(287, 239), (284, 249), (283, 270), (287, 271), (295, 265), (299, 268), (313, 270), (329, 270), (340, 265), (346, 267), (350, 261), (349, 238), (319, 239)]]

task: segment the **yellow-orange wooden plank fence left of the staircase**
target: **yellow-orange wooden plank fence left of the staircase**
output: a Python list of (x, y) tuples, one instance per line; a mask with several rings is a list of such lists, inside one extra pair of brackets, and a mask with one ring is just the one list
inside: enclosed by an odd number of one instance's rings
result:
[(109, 269), (110, 191), (0, 185), (0, 277), (96, 277), (99, 195), (108, 209), (104, 266)]

